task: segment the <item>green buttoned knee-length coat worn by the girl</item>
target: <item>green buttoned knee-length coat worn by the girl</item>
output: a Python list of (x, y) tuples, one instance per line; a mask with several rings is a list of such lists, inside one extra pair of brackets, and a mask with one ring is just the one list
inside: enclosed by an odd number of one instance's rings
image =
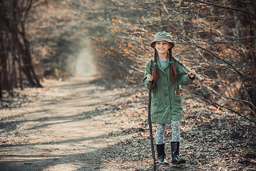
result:
[[(151, 59), (154, 61), (154, 59)], [(143, 84), (149, 88), (147, 76), (150, 73), (150, 61), (145, 67), (145, 75)], [(152, 82), (152, 103), (151, 103), (151, 121), (153, 123), (168, 124), (172, 120), (181, 120), (183, 116), (182, 99), (180, 95), (175, 95), (174, 91), (178, 91), (178, 84), (185, 86), (193, 82), (189, 75), (183, 70), (178, 62), (173, 60), (174, 67), (177, 71), (177, 78), (174, 82), (170, 82), (170, 62), (165, 65), (163, 70), (159, 60), (157, 60), (157, 67), (160, 78)], [(153, 63), (154, 67), (154, 63)]]

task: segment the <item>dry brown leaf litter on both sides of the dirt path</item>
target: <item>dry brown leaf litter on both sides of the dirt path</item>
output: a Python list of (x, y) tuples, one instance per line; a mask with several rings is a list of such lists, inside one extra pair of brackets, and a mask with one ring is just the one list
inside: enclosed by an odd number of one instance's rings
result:
[[(101, 91), (111, 91), (115, 95), (110, 100), (94, 105), (94, 111), (87, 112), (90, 117), (104, 120), (106, 125), (117, 130), (107, 133), (105, 138), (115, 141), (109, 141), (108, 146), (96, 154), (100, 162), (96, 163), (95, 170), (151, 170), (147, 89), (119, 82), (113, 85), (100, 79), (93, 80), (90, 84), (105, 85), (101, 87)], [(26, 88), (24, 91), (15, 92), (14, 97), (6, 97), (7, 100), (2, 101), (0, 110), (1, 149), (27, 144), (38, 137), (52, 136), (50, 133), (40, 132), (40, 129), (31, 131), (29, 128), (38, 126), (40, 122), (30, 121), (23, 124), (26, 120), (25, 113), (35, 112), (28, 107), (38, 102), (46, 105), (52, 101), (72, 98), (70, 91), (49, 87)], [(97, 115), (97, 111), (101, 115)], [(158, 165), (157, 170), (256, 170), (255, 124), (233, 113), (197, 103), (193, 99), (184, 100), (184, 119), (180, 123), (180, 156), (185, 158), (186, 164)], [(156, 124), (152, 125), (155, 137)], [(169, 163), (172, 160), (171, 132), (170, 125), (167, 124), (164, 139)]]

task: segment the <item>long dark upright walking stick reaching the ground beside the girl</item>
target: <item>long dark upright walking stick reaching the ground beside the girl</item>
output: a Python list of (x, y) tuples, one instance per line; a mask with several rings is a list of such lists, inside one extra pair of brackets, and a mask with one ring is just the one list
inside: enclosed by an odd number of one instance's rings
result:
[[(153, 61), (151, 60), (151, 66), (150, 66), (151, 75), (152, 75), (152, 66), (153, 66)], [(149, 82), (149, 92), (148, 92), (148, 125), (149, 125), (149, 135), (150, 135), (151, 152), (152, 152), (152, 160), (153, 160), (153, 171), (156, 171), (156, 156), (155, 156), (155, 149), (154, 149), (154, 143), (153, 143), (153, 133), (152, 133), (152, 123), (151, 123), (151, 87), (152, 87), (152, 81)]]

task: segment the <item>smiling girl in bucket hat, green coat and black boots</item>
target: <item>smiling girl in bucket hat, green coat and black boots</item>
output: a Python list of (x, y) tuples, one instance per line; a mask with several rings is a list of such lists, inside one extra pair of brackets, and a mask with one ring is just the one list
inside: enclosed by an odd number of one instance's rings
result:
[(145, 67), (143, 84), (149, 88), (152, 81), (151, 121), (157, 123), (156, 147), (157, 162), (168, 164), (165, 157), (164, 131), (165, 124), (170, 123), (172, 128), (172, 164), (184, 164), (186, 161), (180, 158), (180, 120), (183, 116), (182, 99), (179, 86), (193, 82), (196, 72), (192, 70), (188, 74), (172, 56), (172, 36), (165, 31), (157, 32), (151, 47), (155, 49), (153, 60), (153, 76), (149, 72), (150, 61)]

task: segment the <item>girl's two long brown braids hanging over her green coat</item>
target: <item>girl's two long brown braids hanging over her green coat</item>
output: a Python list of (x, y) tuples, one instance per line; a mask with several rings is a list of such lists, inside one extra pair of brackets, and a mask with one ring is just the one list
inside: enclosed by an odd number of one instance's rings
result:
[[(169, 61), (170, 61), (170, 82), (174, 82), (174, 80), (177, 78), (177, 71), (176, 68), (174, 67), (172, 60), (173, 60), (173, 56), (172, 56), (172, 47), (169, 48)], [(157, 50), (155, 48), (155, 55), (154, 55), (154, 71), (153, 71), (153, 78), (155, 80), (159, 79), (159, 71), (158, 68), (156, 66), (157, 63), (157, 58), (158, 58), (158, 53)]]

